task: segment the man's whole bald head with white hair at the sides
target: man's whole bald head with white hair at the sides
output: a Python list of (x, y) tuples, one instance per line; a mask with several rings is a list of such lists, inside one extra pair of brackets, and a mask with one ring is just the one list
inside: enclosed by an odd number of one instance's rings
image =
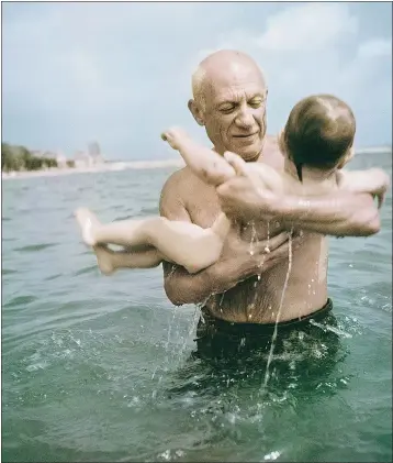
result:
[(254, 59), (232, 49), (211, 54), (192, 76), (192, 92), (189, 110), (215, 151), (255, 161), (266, 134), (267, 88)]

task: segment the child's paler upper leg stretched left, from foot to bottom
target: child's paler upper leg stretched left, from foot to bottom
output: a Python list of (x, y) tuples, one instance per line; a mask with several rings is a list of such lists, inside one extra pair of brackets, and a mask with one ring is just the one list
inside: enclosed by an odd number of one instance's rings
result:
[(221, 235), (225, 236), (228, 229), (226, 220), (223, 219), (222, 224), (215, 225), (213, 231), (190, 222), (170, 221), (164, 217), (109, 224), (100, 223), (88, 209), (78, 209), (76, 217), (82, 229), (83, 240), (89, 245), (151, 245), (166, 256), (166, 261), (186, 267), (189, 273), (199, 272), (218, 260), (223, 246)]

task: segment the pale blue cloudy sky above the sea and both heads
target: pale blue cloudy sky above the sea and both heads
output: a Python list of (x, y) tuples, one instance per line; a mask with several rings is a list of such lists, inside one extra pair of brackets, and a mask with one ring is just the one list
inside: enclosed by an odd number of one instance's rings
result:
[(392, 4), (2, 3), (2, 141), (71, 157), (162, 159), (162, 130), (209, 144), (188, 111), (209, 53), (250, 54), (269, 87), (268, 132), (316, 92), (347, 101), (357, 146), (392, 143)]

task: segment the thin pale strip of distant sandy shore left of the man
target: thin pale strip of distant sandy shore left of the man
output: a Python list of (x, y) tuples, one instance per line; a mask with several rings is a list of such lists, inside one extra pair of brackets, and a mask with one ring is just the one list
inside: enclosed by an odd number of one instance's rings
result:
[(3, 180), (11, 180), (16, 178), (31, 178), (31, 177), (57, 177), (60, 175), (70, 174), (91, 174), (99, 172), (119, 172), (127, 169), (149, 169), (149, 168), (164, 168), (164, 167), (183, 167), (184, 162), (180, 158), (165, 159), (165, 161), (130, 161), (98, 164), (91, 167), (65, 167), (65, 168), (50, 168), (47, 170), (23, 170), (23, 172), (2, 172), (1, 178)]

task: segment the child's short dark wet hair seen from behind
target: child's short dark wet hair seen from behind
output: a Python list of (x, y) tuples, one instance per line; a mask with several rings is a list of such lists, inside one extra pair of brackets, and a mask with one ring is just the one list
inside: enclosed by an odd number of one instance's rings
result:
[(292, 109), (283, 132), (288, 154), (302, 181), (302, 166), (330, 169), (353, 143), (355, 115), (332, 95), (314, 95)]

